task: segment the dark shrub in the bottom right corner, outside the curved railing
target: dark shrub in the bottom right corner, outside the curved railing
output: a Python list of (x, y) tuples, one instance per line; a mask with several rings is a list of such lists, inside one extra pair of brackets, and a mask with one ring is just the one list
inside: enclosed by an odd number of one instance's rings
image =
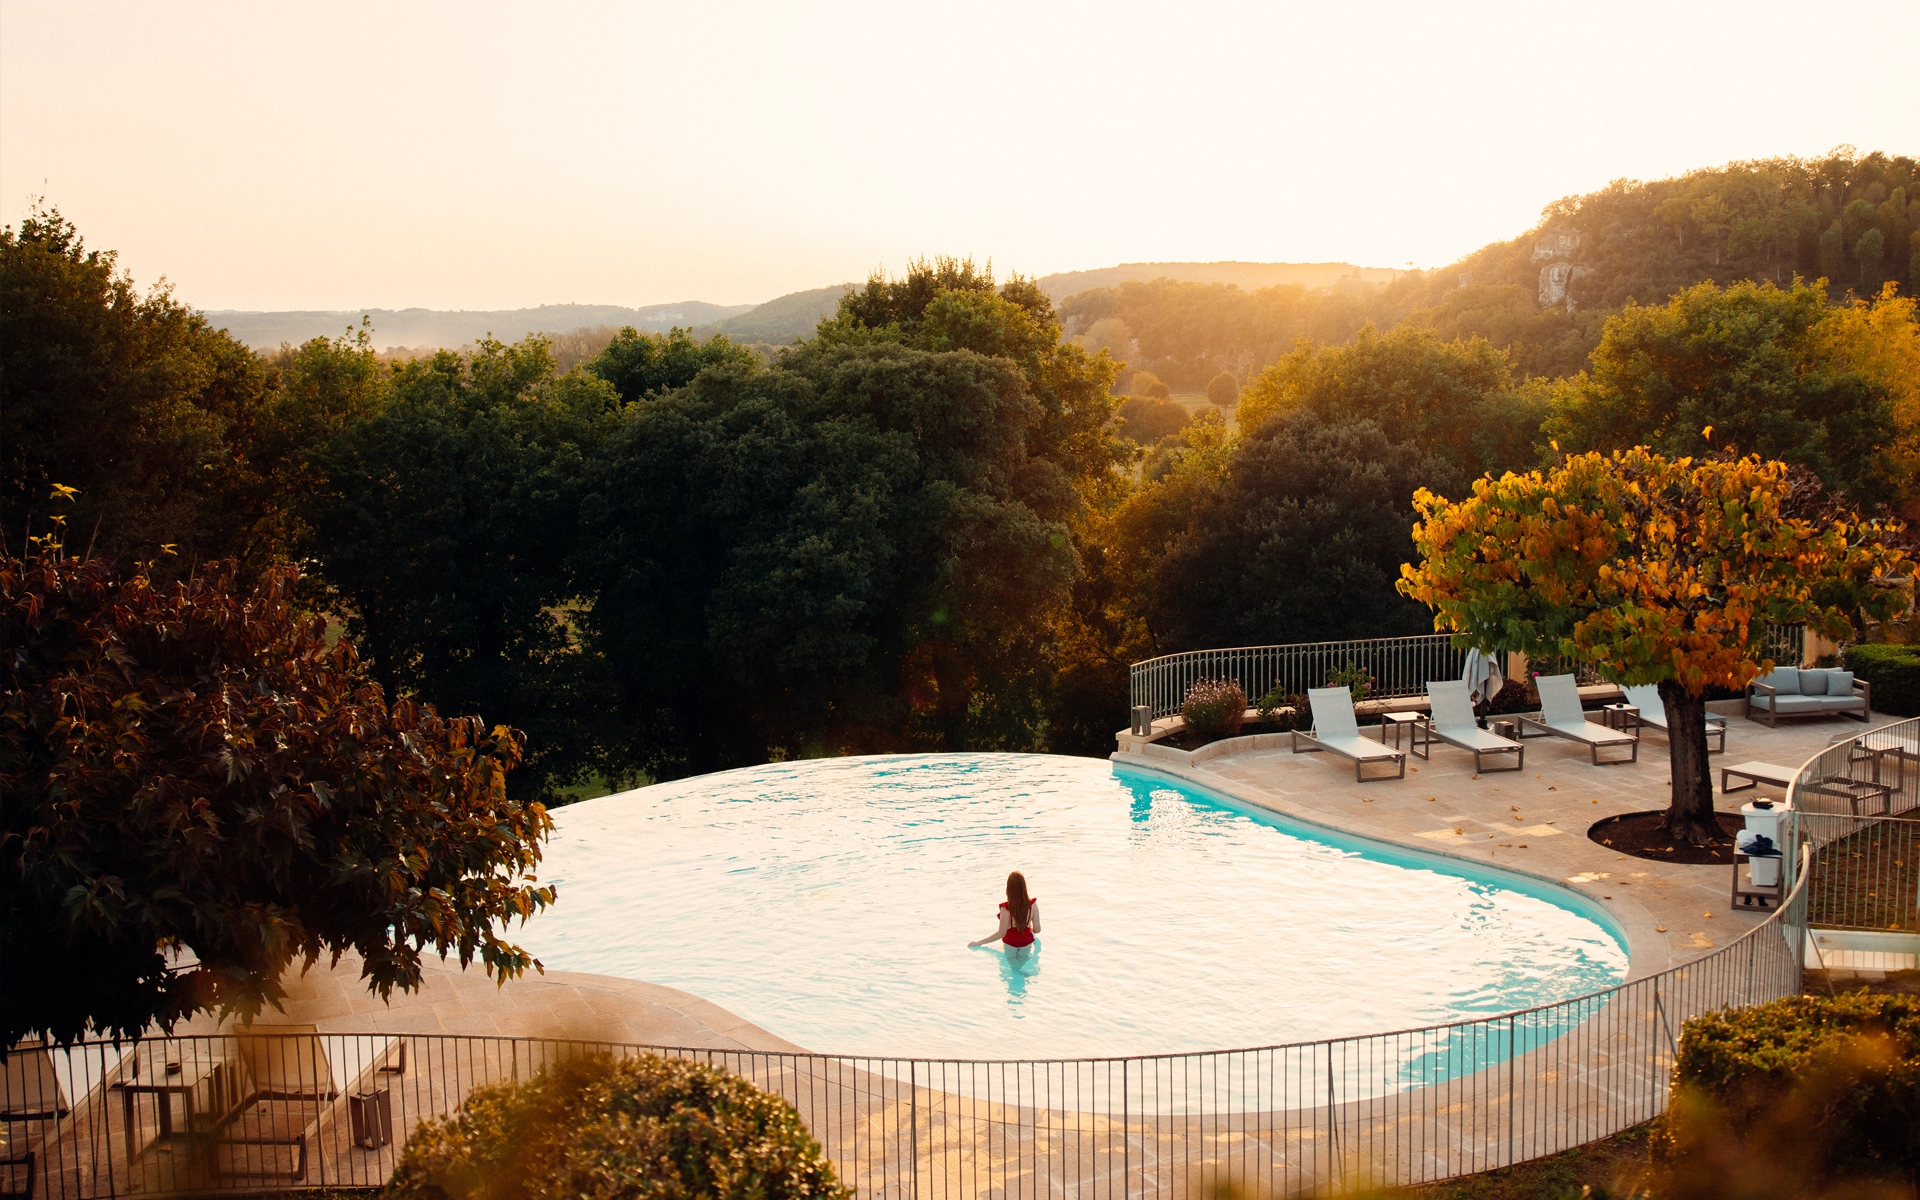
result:
[[(1920, 996), (1788, 996), (1693, 1018), (1674, 1056), (1672, 1100), (1663, 1140), (1674, 1196), (1910, 1179), (1920, 1171)], [(1745, 1175), (1761, 1187), (1747, 1188)]]

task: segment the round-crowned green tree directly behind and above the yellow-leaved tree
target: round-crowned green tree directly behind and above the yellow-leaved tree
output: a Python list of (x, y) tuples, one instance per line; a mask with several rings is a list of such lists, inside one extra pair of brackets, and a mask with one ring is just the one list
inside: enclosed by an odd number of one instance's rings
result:
[(1891, 497), (1887, 392), (1820, 349), (1826, 294), (1805, 282), (1699, 284), (1607, 321), (1548, 432), (1569, 453), (1738, 447), (1811, 468), (1868, 501)]

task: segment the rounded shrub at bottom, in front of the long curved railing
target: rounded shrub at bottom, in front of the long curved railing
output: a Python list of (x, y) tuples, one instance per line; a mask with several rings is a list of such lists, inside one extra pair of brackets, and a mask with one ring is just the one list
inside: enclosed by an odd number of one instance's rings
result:
[(476, 1089), (407, 1140), (394, 1200), (691, 1196), (851, 1200), (799, 1114), (737, 1075), (668, 1058), (576, 1058)]

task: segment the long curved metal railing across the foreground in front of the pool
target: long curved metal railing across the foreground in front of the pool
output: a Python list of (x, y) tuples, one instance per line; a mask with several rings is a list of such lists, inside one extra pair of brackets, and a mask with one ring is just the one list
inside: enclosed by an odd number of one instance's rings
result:
[(860, 1196), (1400, 1187), (1657, 1116), (1682, 1023), (1797, 993), (1805, 947), (1795, 887), (1705, 958), (1588, 996), (1210, 1054), (970, 1062), (369, 1033), (15, 1048), (0, 1171), (23, 1190), (31, 1169), (25, 1190), (61, 1200), (374, 1187), (411, 1129), (474, 1087), (586, 1052), (649, 1052), (785, 1096)]

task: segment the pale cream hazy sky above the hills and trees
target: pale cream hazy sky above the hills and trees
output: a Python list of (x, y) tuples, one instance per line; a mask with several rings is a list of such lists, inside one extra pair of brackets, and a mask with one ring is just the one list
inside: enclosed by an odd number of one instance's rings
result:
[(0, 219), (205, 309), (1432, 267), (1611, 179), (1920, 154), (1914, 46), (1916, 0), (0, 0)]

